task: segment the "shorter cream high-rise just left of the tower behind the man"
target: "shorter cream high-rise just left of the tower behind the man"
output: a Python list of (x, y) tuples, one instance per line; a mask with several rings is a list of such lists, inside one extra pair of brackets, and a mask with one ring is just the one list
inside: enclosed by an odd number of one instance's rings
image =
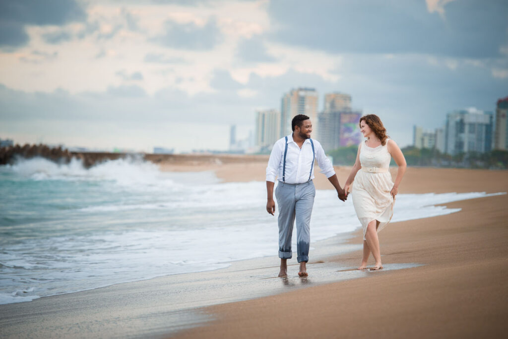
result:
[(279, 111), (269, 109), (256, 112), (256, 146), (259, 148), (271, 149), (275, 141), (279, 138), (279, 132)]

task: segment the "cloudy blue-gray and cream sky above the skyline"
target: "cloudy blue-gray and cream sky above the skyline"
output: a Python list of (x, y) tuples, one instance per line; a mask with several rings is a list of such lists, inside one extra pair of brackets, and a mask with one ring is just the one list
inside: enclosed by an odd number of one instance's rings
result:
[(227, 149), (229, 126), (314, 87), (399, 145), (508, 96), (505, 0), (0, 2), (0, 138)]

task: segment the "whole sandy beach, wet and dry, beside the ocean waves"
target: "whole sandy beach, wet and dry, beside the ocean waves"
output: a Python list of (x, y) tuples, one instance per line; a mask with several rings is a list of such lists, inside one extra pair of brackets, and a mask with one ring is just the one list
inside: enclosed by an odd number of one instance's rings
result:
[[(267, 157), (237, 158), (189, 158), (160, 167), (214, 171), (224, 181), (265, 180)], [(343, 184), (349, 168), (336, 167), (336, 172)], [(332, 188), (321, 174), (315, 184)], [(508, 172), (408, 168), (399, 190), (446, 192), (508, 192)], [(447, 206), (461, 210), (392, 223), (379, 234), (383, 271), (353, 269), (361, 260), (358, 231), (340, 240), (341, 248), (350, 251), (334, 252), (339, 241), (329, 239), (311, 252), (305, 280), (290, 276), (284, 284), (274, 278), (274, 256), (216, 271), (43, 297), (0, 305), (0, 336), (501, 336), (508, 328), (508, 195)], [(260, 210), (265, 212), (264, 206)], [(296, 259), (289, 263), (290, 275), (296, 273)]]

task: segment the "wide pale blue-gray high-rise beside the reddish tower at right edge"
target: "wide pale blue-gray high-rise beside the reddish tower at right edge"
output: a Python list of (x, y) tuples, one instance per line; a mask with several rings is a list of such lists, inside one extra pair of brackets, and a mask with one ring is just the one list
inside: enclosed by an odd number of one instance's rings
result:
[(450, 155), (462, 152), (488, 152), (492, 146), (492, 112), (476, 108), (447, 114), (445, 151)]

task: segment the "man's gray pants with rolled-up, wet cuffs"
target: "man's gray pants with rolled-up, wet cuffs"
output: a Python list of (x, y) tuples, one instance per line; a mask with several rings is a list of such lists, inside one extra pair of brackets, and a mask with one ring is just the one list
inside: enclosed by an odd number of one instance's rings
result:
[(296, 219), (298, 262), (309, 261), (310, 214), (316, 190), (309, 180), (304, 183), (278, 182), (275, 198), (279, 207), (279, 258), (291, 259), (291, 237)]

